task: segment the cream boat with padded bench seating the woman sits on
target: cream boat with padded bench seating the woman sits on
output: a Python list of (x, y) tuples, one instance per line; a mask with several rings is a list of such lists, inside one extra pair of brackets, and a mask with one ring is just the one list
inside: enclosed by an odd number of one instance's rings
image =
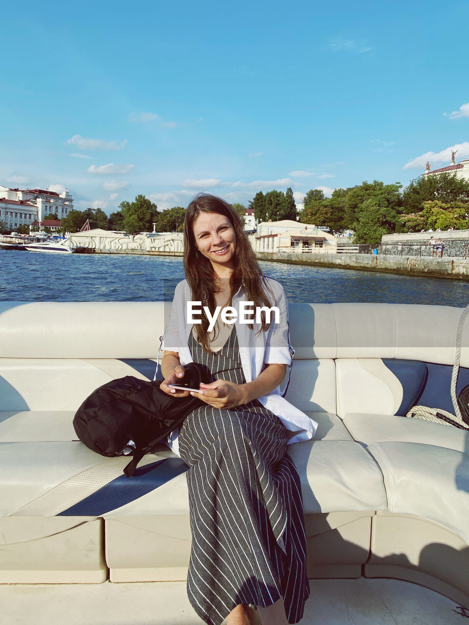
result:
[[(469, 433), (405, 417), (416, 402), (451, 411), (456, 364), (456, 392), (469, 386), (464, 311), (290, 304), (287, 398), (319, 424), (288, 451), (311, 580), (301, 625), (467, 622)], [(0, 301), (1, 622), (201, 625), (186, 596), (181, 459), (162, 444), (129, 479), (127, 457), (95, 454), (73, 429), (96, 387), (153, 379), (148, 337), (164, 313), (164, 302)], [(47, 343), (31, 341), (51, 319)]]

